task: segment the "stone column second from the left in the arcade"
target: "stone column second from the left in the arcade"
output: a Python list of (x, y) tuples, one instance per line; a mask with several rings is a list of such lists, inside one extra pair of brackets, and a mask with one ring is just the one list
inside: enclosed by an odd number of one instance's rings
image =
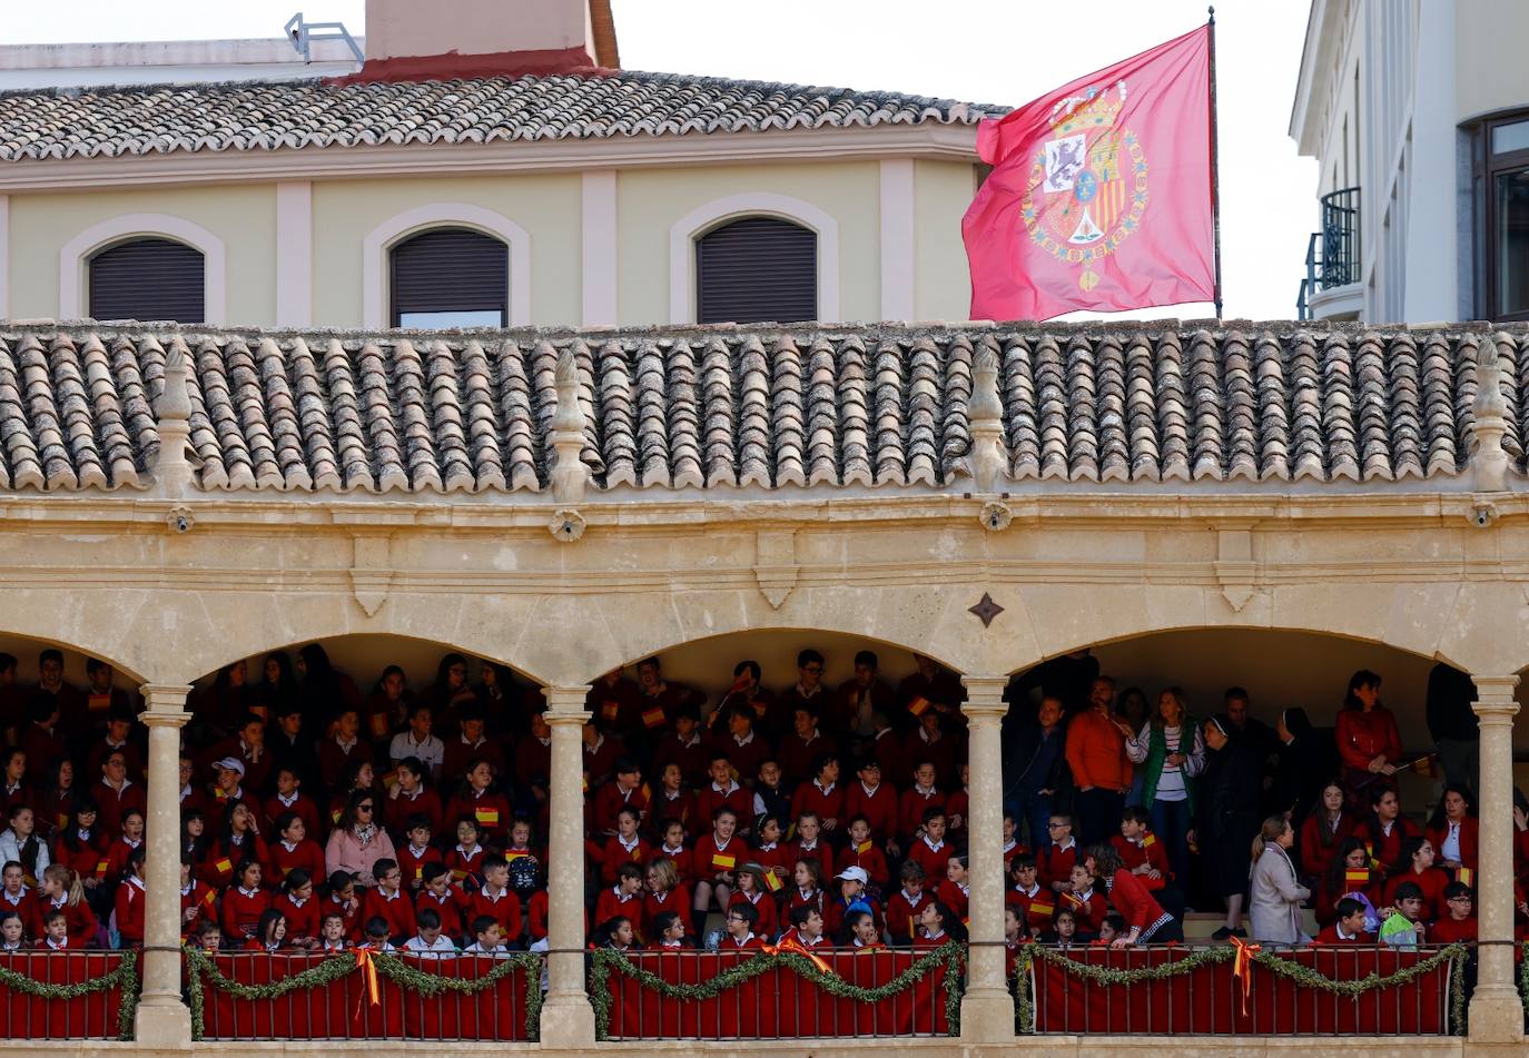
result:
[(549, 686), (552, 832), (547, 835), (547, 997), (541, 1046), (593, 1050), (595, 1008), (584, 982), (584, 749), (587, 686)]

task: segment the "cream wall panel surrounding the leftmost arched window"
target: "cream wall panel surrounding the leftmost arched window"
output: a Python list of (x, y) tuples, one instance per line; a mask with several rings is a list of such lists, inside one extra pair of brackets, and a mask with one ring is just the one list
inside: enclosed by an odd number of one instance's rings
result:
[(228, 323), (275, 323), (277, 208), (271, 183), (11, 196), (11, 315), (57, 316), (60, 249), (86, 228), (133, 213), (182, 217), (222, 239)]

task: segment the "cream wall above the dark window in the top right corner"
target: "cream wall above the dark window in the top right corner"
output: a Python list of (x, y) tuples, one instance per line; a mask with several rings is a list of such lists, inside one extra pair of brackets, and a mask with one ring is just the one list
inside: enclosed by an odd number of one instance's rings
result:
[(1456, 118), (1529, 105), (1529, 5), (1456, 0)]

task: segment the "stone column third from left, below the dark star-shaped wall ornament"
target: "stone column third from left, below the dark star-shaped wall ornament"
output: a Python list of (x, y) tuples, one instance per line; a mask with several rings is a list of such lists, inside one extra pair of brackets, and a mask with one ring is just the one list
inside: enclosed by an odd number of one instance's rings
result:
[(971, 806), (971, 951), (960, 1001), (963, 1043), (1014, 1043), (1014, 997), (1003, 977), (1003, 748), (1005, 676), (963, 676)]

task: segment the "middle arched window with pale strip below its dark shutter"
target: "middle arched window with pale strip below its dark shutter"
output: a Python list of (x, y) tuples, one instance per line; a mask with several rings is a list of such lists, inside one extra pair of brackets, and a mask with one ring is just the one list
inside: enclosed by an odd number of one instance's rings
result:
[(509, 246), (471, 228), (431, 228), (388, 254), (394, 327), (508, 327)]

